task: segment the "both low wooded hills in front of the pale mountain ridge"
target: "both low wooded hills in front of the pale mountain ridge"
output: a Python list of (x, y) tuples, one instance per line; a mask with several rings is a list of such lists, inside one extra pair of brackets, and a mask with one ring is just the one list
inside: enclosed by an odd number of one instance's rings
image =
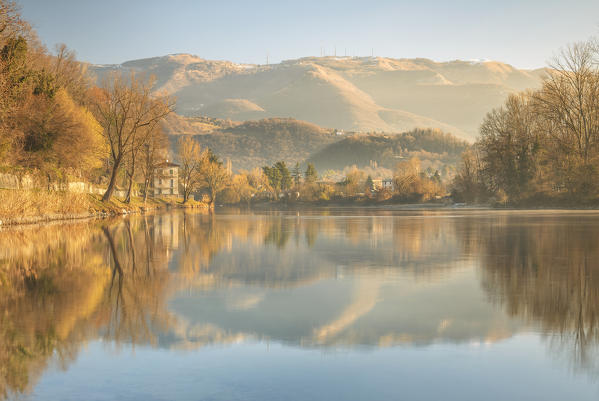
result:
[(177, 139), (193, 136), (203, 148), (230, 159), (235, 170), (252, 169), (284, 160), (315, 164), (319, 171), (343, 170), (376, 162), (392, 169), (398, 161), (418, 157), (425, 167), (455, 165), (468, 143), (437, 129), (398, 134), (344, 133), (292, 118), (236, 122), (171, 114), (164, 123), (173, 149)]

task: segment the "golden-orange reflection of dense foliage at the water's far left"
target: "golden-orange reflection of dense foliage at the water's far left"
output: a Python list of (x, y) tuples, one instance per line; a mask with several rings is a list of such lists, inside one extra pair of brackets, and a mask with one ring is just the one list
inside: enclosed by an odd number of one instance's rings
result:
[(108, 279), (93, 242), (86, 224), (0, 232), (0, 397), (75, 358)]

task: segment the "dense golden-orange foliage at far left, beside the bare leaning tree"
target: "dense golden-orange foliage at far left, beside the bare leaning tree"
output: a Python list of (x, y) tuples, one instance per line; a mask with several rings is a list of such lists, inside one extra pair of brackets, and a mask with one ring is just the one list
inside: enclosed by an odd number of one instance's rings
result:
[[(12, 1), (0, 1), (0, 164), (48, 187), (88, 175), (102, 153), (89, 77), (66, 46), (49, 54)], [(53, 187), (53, 185), (52, 185)]]

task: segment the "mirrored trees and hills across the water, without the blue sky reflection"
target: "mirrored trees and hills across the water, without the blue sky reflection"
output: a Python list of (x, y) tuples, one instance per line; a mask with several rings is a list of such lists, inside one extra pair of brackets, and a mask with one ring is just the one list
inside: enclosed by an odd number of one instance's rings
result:
[(323, 349), (541, 332), (597, 360), (599, 215), (174, 212), (0, 231), (0, 394), (86, 343)]

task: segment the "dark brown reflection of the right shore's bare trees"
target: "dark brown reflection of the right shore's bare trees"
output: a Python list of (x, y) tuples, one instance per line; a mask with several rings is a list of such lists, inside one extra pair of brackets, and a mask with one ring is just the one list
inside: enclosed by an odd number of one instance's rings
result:
[(509, 314), (540, 324), (576, 366), (596, 368), (599, 226), (563, 219), (511, 216), (486, 225), (478, 233), (482, 282)]

